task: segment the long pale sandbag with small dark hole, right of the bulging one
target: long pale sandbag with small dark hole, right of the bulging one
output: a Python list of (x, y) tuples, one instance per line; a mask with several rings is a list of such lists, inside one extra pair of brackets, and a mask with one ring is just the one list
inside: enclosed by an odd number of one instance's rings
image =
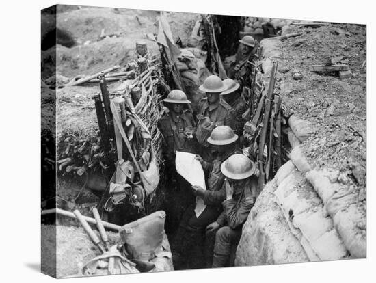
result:
[(311, 261), (347, 258), (347, 250), (323, 202), (301, 172), (294, 170), (274, 192), (291, 231)]

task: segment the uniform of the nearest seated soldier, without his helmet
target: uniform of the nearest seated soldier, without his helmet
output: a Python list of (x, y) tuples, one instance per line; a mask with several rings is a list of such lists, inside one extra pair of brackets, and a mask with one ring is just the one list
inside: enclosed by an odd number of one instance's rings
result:
[(214, 204), (222, 202), (223, 213), (219, 215), (219, 228), (215, 235), (215, 246), (212, 267), (228, 265), (232, 245), (237, 245), (241, 237), (241, 228), (256, 201), (257, 178), (252, 176), (245, 183), (234, 183), (232, 199), (226, 200), (225, 184), (219, 191), (205, 191), (204, 202)]

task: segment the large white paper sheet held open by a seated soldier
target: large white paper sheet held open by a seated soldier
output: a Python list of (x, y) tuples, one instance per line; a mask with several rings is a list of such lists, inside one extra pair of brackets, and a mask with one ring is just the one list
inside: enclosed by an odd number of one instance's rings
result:
[[(195, 159), (195, 154), (187, 152), (176, 152), (176, 172), (180, 174), (191, 185), (197, 185), (206, 189), (204, 170), (200, 162)], [(199, 217), (206, 208), (202, 198), (196, 198), (196, 217)]]

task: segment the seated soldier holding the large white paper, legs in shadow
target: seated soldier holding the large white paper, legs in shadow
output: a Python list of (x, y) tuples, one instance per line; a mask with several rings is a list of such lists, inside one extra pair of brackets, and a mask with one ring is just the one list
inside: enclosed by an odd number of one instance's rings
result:
[[(207, 177), (207, 187), (209, 191), (217, 191), (221, 189), (225, 176), (221, 173), (221, 163), (228, 157), (235, 153), (241, 153), (238, 143), (238, 136), (232, 131), (229, 126), (218, 126), (215, 128), (211, 136), (208, 138), (208, 142), (217, 148), (217, 156), (213, 163), (204, 161), (202, 157), (196, 155), (196, 159), (200, 161), (205, 175)], [(204, 231), (208, 224), (211, 224), (218, 215), (221, 213), (220, 202), (206, 206), (205, 210), (199, 217), (196, 217), (194, 209), (196, 204), (192, 204), (187, 208), (183, 215), (182, 221), (174, 238), (172, 244), (172, 252), (174, 254), (174, 262), (178, 269), (181, 265), (186, 264), (184, 260), (189, 260), (189, 252), (193, 250), (193, 246), (198, 247), (199, 252), (203, 252), (204, 243)], [(196, 263), (197, 260), (196, 260)], [(193, 265), (195, 262), (193, 262)], [(180, 265), (180, 266), (179, 266)], [(189, 266), (189, 263), (187, 264)], [(187, 268), (186, 267), (186, 268)], [(200, 268), (203, 266), (195, 266)], [(194, 267), (191, 267), (194, 268)]]

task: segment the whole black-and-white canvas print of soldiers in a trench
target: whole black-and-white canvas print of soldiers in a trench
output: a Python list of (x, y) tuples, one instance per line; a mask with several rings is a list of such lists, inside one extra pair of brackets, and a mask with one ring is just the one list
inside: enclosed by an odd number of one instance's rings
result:
[(367, 25), (249, 11), (40, 11), (42, 273), (367, 258)]

